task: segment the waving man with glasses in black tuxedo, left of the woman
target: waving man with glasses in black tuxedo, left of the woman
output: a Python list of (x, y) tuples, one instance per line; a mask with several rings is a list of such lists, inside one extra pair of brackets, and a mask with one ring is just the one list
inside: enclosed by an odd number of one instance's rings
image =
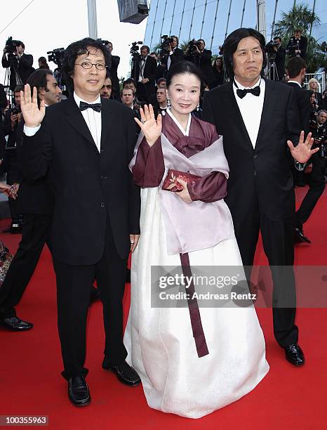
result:
[(126, 361), (122, 299), (126, 261), (140, 234), (140, 190), (128, 163), (136, 128), (131, 109), (100, 99), (107, 48), (90, 38), (65, 50), (62, 72), (72, 95), (47, 108), (25, 88), (25, 172), (48, 174), (54, 190), (51, 252), (57, 278), (58, 330), (69, 399), (88, 405), (85, 377), (86, 318), (90, 285), (97, 279), (103, 304), (102, 367), (130, 386), (140, 383)]

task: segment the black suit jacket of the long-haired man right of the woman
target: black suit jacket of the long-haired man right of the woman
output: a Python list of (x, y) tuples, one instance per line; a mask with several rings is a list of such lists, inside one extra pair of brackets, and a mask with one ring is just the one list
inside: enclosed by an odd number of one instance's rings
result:
[(294, 215), (295, 195), (291, 160), (286, 141), (298, 142), (300, 125), (294, 92), (279, 82), (265, 80), (265, 100), (258, 138), (253, 145), (236, 103), (232, 82), (206, 91), (202, 118), (217, 126), (223, 136), (229, 164), (227, 202), (234, 221), (253, 210), (269, 219), (283, 220)]

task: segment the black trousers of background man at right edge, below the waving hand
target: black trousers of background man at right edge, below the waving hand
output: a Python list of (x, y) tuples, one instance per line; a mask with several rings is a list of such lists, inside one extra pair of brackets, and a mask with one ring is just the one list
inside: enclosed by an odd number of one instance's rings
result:
[(309, 219), (316, 203), (325, 190), (325, 169), (326, 159), (319, 155), (312, 155), (312, 171), (305, 174), (305, 179), (309, 185), (309, 190), (302, 200), (302, 203), (295, 214), (295, 227), (302, 228), (302, 225)]

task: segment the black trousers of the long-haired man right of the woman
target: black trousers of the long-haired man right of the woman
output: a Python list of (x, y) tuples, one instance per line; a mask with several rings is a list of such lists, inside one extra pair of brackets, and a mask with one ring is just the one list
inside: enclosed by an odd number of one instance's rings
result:
[[(272, 221), (260, 214), (258, 202), (253, 203), (253, 210), (242, 221), (234, 221), (244, 266), (253, 266), (259, 230), (261, 231), (263, 248), (272, 271), (274, 337), (280, 346), (298, 341), (298, 327), (295, 325), (293, 222), (293, 219)], [(251, 278), (251, 268), (246, 269), (246, 278)]]

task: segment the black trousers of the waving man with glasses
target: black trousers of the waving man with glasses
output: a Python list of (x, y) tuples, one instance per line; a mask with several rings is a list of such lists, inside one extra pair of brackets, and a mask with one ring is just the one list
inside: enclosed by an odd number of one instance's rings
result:
[[(57, 277), (58, 330), (64, 371), (62, 376), (84, 376), (86, 356), (86, 318), (90, 301), (90, 285), (97, 279), (103, 304), (105, 325), (104, 365), (124, 362), (127, 351), (123, 344), (123, 297), (127, 259), (121, 259), (107, 221), (106, 245), (102, 258), (92, 266), (71, 266), (54, 261)], [(86, 244), (87, 246), (87, 244)]]

